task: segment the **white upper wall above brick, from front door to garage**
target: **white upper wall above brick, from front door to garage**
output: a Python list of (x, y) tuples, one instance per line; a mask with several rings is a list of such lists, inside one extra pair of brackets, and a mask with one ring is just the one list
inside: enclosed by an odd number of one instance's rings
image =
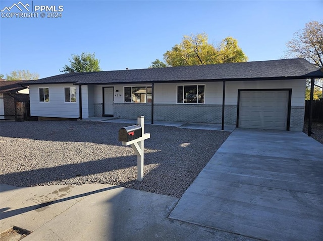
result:
[[(223, 82), (168, 83), (154, 85), (155, 104), (176, 104), (178, 85), (205, 85), (205, 104), (222, 105)], [(94, 86), (94, 103), (102, 103), (102, 87), (114, 87), (114, 103), (124, 103), (124, 87), (142, 85), (97, 85)], [(237, 105), (239, 89), (292, 89), (292, 106), (304, 106), (305, 79), (288, 81), (226, 82), (226, 105)], [(119, 92), (116, 92), (119, 90)], [(82, 93), (83, 94), (83, 93)], [(82, 98), (83, 99), (83, 98)]]

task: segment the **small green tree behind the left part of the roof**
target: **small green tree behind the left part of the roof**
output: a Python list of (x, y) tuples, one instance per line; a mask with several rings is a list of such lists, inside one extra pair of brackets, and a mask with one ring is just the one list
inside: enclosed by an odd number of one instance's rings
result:
[(61, 72), (80, 73), (80, 72), (96, 72), (101, 71), (99, 66), (100, 61), (95, 58), (95, 53), (82, 52), (81, 55), (72, 54), (72, 59), (69, 59), (70, 65), (65, 65)]

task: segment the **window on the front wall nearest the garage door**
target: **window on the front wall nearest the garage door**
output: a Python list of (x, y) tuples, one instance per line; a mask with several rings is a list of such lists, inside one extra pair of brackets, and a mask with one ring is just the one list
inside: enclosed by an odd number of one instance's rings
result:
[(203, 104), (205, 85), (177, 86), (177, 103)]

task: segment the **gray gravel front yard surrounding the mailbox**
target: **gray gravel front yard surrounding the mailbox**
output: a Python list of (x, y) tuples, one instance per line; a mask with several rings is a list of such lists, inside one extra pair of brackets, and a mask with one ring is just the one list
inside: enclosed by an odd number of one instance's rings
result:
[(14, 186), (102, 183), (180, 198), (230, 135), (146, 125), (144, 179), (137, 156), (118, 141), (129, 124), (0, 122), (0, 183)]

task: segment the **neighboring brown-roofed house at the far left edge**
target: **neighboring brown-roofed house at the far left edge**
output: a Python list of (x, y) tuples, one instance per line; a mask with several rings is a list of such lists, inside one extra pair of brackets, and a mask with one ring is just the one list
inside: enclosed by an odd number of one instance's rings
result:
[[(27, 103), (29, 108), (29, 91), (26, 87), (22, 87), (21, 84), (25, 81), (6, 81), (6, 79), (0, 79), (0, 119), (16, 119), (17, 115), (17, 103)], [(25, 105), (23, 104), (21, 115), (24, 115)], [(18, 107), (18, 112), (20, 106)], [(21, 118), (20, 118), (21, 117)], [(24, 116), (19, 116), (19, 119), (23, 119)]]

